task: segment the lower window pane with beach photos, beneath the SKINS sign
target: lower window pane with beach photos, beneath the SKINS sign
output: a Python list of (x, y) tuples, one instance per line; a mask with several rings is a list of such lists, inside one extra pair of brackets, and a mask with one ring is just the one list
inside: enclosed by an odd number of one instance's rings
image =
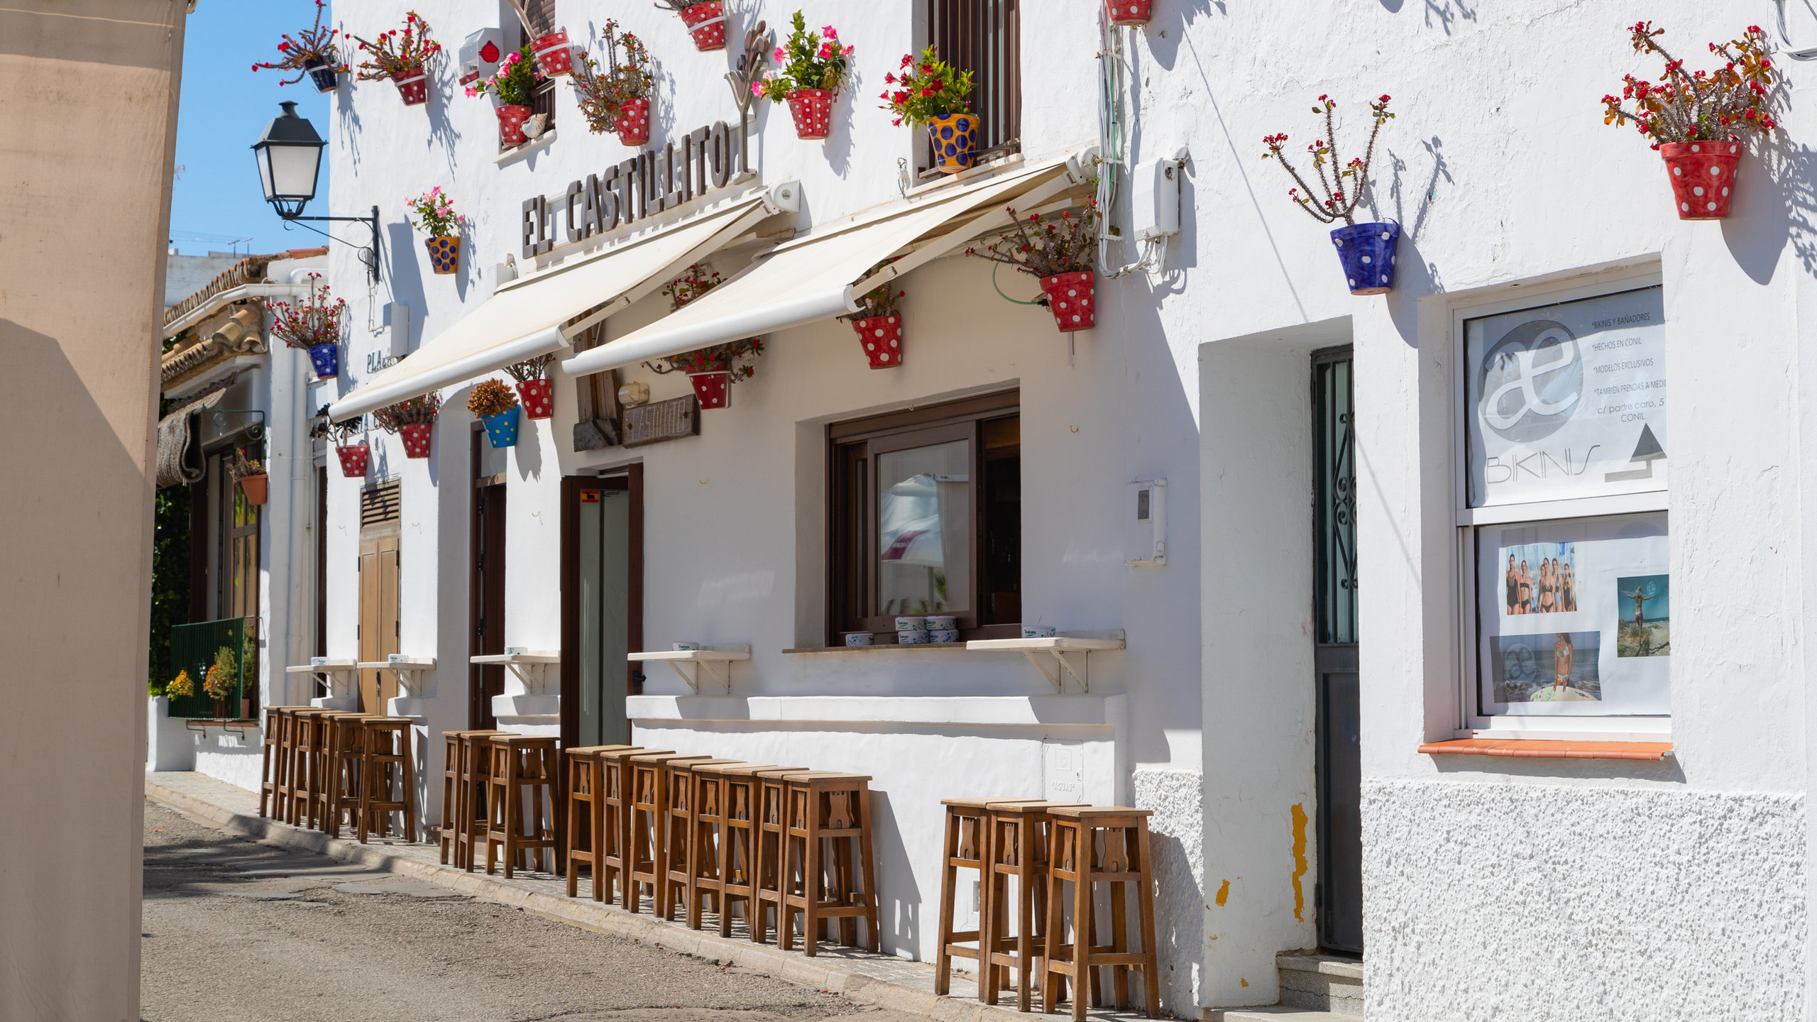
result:
[(1483, 713), (1672, 713), (1666, 515), (1477, 529)]

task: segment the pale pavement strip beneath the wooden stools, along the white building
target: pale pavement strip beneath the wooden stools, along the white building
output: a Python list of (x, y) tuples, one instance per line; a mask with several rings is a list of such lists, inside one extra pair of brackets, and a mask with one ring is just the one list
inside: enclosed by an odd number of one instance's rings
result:
[[(959, 969), (952, 973), (952, 995), (939, 997), (934, 993), (934, 966), (925, 962), (825, 944), (819, 955), (809, 958), (799, 949), (783, 951), (774, 942), (754, 944), (743, 927), (743, 920), (736, 920), (734, 937), (725, 938), (720, 937), (718, 918), (712, 913), (709, 913), (712, 922), (698, 931), (680, 922), (665, 922), (649, 913), (632, 915), (620, 907), (594, 902), (585, 877), (580, 886), (581, 897), (569, 898), (567, 880), (551, 873), (520, 871), (518, 877), (505, 880), (503, 875), (487, 877), (483, 871), (467, 873), (465, 869), (443, 866), (434, 844), (405, 844), (385, 838), (374, 838), (369, 844), (336, 840), (320, 831), (267, 820), (258, 815), (258, 795), (200, 773), (147, 773), (145, 797), (269, 844), (302, 847), (345, 862), (414, 877), (463, 895), (520, 907), (585, 929), (643, 940), (681, 955), (696, 955), (700, 958), (758, 969), (794, 984), (841, 993), (856, 1002), (876, 1004), (892, 1011), (912, 1011), (941, 1022), (1070, 1018), (1070, 1015), (1021, 1015), (1016, 1011), (1014, 995), (1008, 995), (1007, 1007), (1003, 1004), (996, 1007), (979, 1004), (976, 977)], [(1141, 1018), (1141, 1015), (1112, 1011), (1092, 1011), (1090, 1015), (1097, 1020)]]

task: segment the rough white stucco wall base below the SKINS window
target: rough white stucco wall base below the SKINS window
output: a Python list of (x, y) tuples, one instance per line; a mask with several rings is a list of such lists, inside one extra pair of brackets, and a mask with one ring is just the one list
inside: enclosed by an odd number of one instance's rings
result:
[(1368, 1013), (1804, 1017), (1799, 795), (1363, 784)]

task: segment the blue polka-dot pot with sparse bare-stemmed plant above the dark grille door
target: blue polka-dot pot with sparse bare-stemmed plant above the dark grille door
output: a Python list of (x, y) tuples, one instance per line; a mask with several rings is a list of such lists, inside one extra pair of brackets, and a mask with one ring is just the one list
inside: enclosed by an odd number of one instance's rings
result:
[[(1386, 295), (1394, 289), (1394, 260), (1401, 242), (1401, 225), (1394, 220), (1385, 224), (1357, 224), (1354, 213), (1370, 182), (1368, 165), (1375, 156), (1375, 136), (1381, 135), (1381, 125), (1394, 120), (1394, 115), (1388, 113), (1388, 96), (1374, 100), (1368, 109), (1375, 125), (1368, 133), (1368, 145), (1363, 149), (1361, 158), (1352, 158), (1345, 164), (1337, 158), (1337, 125), (1332, 120), (1332, 111), (1335, 109), (1337, 100), (1319, 96), (1312, 113), (1325, 115), (1325, 138), (1306, 145), (1306, 153), (1312, 155), (1312, 169), (1317, 175), (1319, 191), (1325, 193), (1325, 198), (1317, 198), (1306, 178), (1299, 176), (1294, 164), (1286, 162), (1286, 153), (1281, 151), (1286, 144), (1285, 133), (1263, 138), (1263, 145), (1268, 151), (1261, 158), (1274, 156), (1281, 160), (1288, 176), (1299, 185), (1286, 189), (1286, 195), (1306, 215), (1319, 224), (1345, 222), (1343, 227), (1332, 231), (1332, 244), (1337, 245), (1337, 262), (1345, 267), (1345, 280), (1350, 282), (1350, 293)], [(1350, 182), (1348, 191), (1345, 191), (1346, 180)], [(1305, 195), (1301, 195), (1301, 189), (1305, 189)]]

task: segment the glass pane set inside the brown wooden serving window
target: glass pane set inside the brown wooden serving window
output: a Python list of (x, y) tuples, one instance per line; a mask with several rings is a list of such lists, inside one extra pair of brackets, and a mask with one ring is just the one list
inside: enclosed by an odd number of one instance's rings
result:
[(970, 609), (970, 444), (878, 455), (878, 615)]

